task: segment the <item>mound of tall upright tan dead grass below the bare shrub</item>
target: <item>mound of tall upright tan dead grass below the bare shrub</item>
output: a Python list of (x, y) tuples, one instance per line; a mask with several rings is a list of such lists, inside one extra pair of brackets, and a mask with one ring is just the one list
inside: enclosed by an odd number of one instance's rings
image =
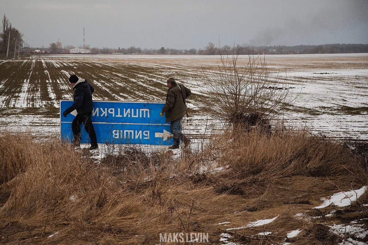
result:
[[(262, 128), (250, 132), (237, 130), (219, 144), (237, 178), (262, 176), (334, 176), (353, 171), (357, 158), (342, 143), (312, 135), (308, 129), (276, 129), (272, 134)], [(229, 144), (229, 141), (231, 143)], [(360, 173), (356, 173), (364, 179)]]

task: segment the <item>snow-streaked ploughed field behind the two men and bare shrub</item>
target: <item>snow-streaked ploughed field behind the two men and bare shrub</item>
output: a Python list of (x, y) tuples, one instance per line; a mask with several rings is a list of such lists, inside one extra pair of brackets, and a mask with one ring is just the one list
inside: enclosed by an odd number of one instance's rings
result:
[[(339, 139), (368, 139), (368, 54), (266, 55), (273, 76), (287, 80), (293, 105), (283, 119), (293, 126)], [(245, 66), (247, 55), (238, 57)], [(202, 68), (218, 55), (32, 55), (0, 60), (0, 130), (60, 136), (59, 101), (72, 98), (69, 75), (87, 79), (102, 101), (164, 102), (170, 76), (192, 90), (183, 131), (203, 138), (218, 122), (201, 107), (206, 99)]]

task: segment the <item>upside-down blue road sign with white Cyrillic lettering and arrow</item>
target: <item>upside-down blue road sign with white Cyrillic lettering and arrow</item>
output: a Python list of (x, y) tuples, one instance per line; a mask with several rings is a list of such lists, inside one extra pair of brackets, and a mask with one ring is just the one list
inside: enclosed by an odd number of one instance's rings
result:
[[(67, 117), (62, 114), (73, 104), (71, 100), (60, 101), (60, 135), (72, 142), (71, 123), (77, 115), (72, 111)], [(91, 119), (101, 144), (149, 144), (172, 145), (170, 124), (160, 116), (165, 103), (93, 101)], [(81, 125), (81, 143), (89, 143), (89, 136)]]

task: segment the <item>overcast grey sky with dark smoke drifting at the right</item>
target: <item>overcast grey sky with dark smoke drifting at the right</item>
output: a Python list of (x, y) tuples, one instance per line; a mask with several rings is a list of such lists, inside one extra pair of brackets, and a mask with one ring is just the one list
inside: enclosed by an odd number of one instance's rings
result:
[[(368, 44), (368, 0), (0, 0), (30, 47)], [(1, 13), (0, 13), (1, 14)], [(85, 35), (83, 36), (83, 28)]]

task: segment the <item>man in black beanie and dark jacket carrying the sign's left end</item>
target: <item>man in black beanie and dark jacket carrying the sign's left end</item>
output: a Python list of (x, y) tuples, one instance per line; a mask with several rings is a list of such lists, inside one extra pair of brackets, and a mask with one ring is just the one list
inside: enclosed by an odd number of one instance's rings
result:
[(74, 103), (71, 107), (67, 108), (63, 112), (63, 116), (66, 117), (70, 112), (77, 110), (78, 114), (75, 116), (71, 123), (71, 129), (73, 131), (73, 145), (79, 147), (81, 141), (81, 133), (79, 126), (83, 123), (84, 128), (87, 131), (89, 138), (91, 139), (91, 147), (89, 150), (98, 149), (97, 138), (95, 128), (92, 125), (91, 114), (93, 110), (92, 94), (95, 91), (93, 86), (87, 82), (87, 80), (78, 78), (76, 75), (71, 75), (69, 82), (73, 86), (74, 90)]

